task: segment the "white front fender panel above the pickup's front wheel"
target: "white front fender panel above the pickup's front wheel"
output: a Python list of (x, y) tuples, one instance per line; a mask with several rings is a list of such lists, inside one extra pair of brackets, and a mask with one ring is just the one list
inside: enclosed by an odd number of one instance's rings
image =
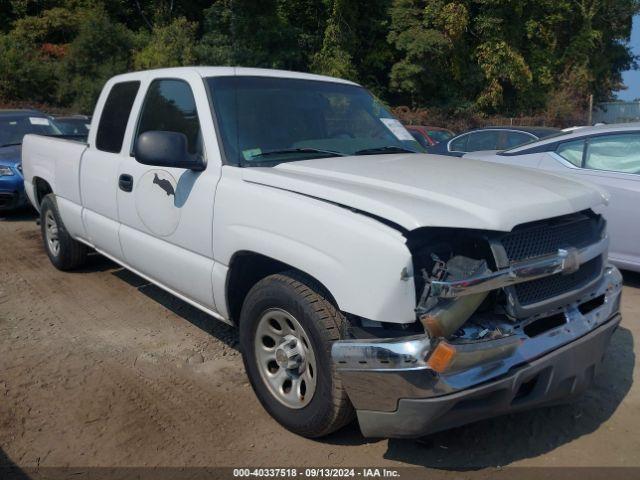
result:
[(316, 278), (342, 311), (415, 321), (413, 265), (402, 233), (335, 204), (245, 182), (239, 169), (223, 170), (214, 213), (216, 262), (229, 265), (243, 250), (260, 253)]

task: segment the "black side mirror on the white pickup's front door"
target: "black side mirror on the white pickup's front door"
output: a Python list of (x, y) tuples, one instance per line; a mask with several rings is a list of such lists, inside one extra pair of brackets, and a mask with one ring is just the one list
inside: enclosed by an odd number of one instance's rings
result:
[(133, 149), (136, 160), (155, 167), (186, 168), (204, 170), (200, 156), (191, 155), (187, 148), (187, 136), (178, 132), (151, 130), (144, 132), (136, 140)]

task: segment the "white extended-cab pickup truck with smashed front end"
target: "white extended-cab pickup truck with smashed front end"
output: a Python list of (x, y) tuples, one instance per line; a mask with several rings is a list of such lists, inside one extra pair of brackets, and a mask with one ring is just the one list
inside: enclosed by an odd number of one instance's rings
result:
[(425, 155), (362, 87), (189, 67), (107, 82), (88, 142), (27, 135), (63, 270), (89, 249), (237, 325), (286, 428), (411, 437), (565, 402), (620, 321), (599, 190)]

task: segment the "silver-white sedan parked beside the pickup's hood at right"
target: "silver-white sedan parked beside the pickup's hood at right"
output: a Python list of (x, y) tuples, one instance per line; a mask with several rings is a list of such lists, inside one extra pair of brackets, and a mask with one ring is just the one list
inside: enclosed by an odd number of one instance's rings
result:
[(582, 127), (504, 152), (464, 158), (548, 170), (599, 185), (609, 205), (599, 208), (611, 237), (609, 259), (640, 271), (640, 123)]

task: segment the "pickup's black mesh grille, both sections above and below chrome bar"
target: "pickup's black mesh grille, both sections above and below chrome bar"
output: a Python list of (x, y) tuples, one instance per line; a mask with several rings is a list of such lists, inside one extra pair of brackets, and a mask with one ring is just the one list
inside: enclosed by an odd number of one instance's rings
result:
[[(516, 227), (501, 239), (509, 262), (520, 262), (544, 255), (557, 254), (561, 248), (584, 248), (597, 243), (604, 221), (600, 216), (581, 212)], [(557, 274), (520, 283), (512, 287), (514, 300), (522, 306), (532, 305), (559, 295), (579, 291), (602, 272), (601, 256), (571, 274)]]

